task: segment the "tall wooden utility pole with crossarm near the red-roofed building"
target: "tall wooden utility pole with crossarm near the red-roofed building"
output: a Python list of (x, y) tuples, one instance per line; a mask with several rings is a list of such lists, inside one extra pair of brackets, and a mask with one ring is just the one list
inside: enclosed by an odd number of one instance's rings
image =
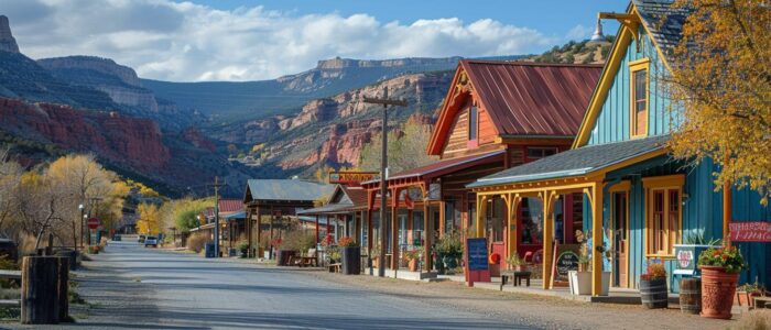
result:
[[(383, 89), (383, 98), (365, 98), (365, 103), (383, 105), (383, 123), (382, 123), (382, 151), (380, 160), (380, 255), (378, 256), (378, 276), (386, 277), (386, 246), (388, 246), (388, 238), (386, 237), (386, 207), (388, 204), (387, 191), (388, 182), (386, 180), (386, 173), (388, 169), (388, 106), (401, 106), (406, 107), (406, 101), (404, 100), (390, 100), (388, 98), (388, 87)], [(392, 196), (391, 198), (398, 198)], [(394, 230), (395, 226), (391, 223), (391, 230)], [(397, 246), (391, 246), (397, 249)]]

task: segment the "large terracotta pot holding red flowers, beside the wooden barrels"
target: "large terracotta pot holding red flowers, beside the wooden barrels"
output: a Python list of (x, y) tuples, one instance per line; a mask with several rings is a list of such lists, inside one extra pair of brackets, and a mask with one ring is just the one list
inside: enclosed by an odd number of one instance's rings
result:
[(729, 274), (723, 267), (702, 268), (702, 317), (730, 319), (734, 295), (739, 274)]

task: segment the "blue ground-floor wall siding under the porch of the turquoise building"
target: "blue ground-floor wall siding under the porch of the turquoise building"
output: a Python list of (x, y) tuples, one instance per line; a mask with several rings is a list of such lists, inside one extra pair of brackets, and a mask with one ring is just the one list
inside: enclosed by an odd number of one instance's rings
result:
[[(640, 275), (644, 273), (648, 258), (644, 256), (644, 190), (641, 178), (663, 176), (670, 174), (685, 174), (683, 193), (688, 198), (683, 200), (683, 240), (689, 233), (704, 232), (707, 240), (723, 237), (723, 193), (715, 191), (713, 173), (717, 172), (716, 165), (709, 160), (693, 168), (684, 168), (682, 163), (672, 162), (667, 156), (661, 156), (648, 162), (639, 163), (607, 175), (607, 183), (618, 179), (631, 182), (629, 194), (629, 276), (631, 286), (637, 287)], [(587, 199), (584, 199), (588, 204)], [(748, 188), (732, 190), (731, 218), (736, 221), (771, 221), (771, 208), (760, 205), (760, 196)], [(591, 228), (591, 212), (584, 208), (584, 230)], [(604, 198), (604, 228), (608, 228), (610, 215), (610, 196)], [(682, 242), (682, 241), (681, 241)], [(743, 283), (759, 282), (771, 284), (771, 244), (768, 243), (738, 243), (736, 244), (742, 255), (750, 262), (750, 270), (742, 272), (740, 280)], [(677, 280), (671, 275), (674, 271), (674, 261), (666, 262), (670, 283), (673, 292), (678, 290)]]

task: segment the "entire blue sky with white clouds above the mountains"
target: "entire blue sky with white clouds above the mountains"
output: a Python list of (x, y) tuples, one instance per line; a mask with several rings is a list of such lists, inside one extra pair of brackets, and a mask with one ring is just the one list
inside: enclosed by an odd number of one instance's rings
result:
[[(170, 81), (262, 80), (333, 57), (539, 54), (620, 0), (1, 0), (32, 58), (112, 58)], [(618, 24), (604, 21), (606, 34)]]

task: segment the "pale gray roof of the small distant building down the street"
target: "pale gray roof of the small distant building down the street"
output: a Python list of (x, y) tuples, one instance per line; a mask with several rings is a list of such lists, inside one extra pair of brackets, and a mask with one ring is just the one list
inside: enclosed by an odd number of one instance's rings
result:
[(293, 179), (250, 179), (247, 189), (252, 200), (315, 201), (328, 198), (335, 185)]

